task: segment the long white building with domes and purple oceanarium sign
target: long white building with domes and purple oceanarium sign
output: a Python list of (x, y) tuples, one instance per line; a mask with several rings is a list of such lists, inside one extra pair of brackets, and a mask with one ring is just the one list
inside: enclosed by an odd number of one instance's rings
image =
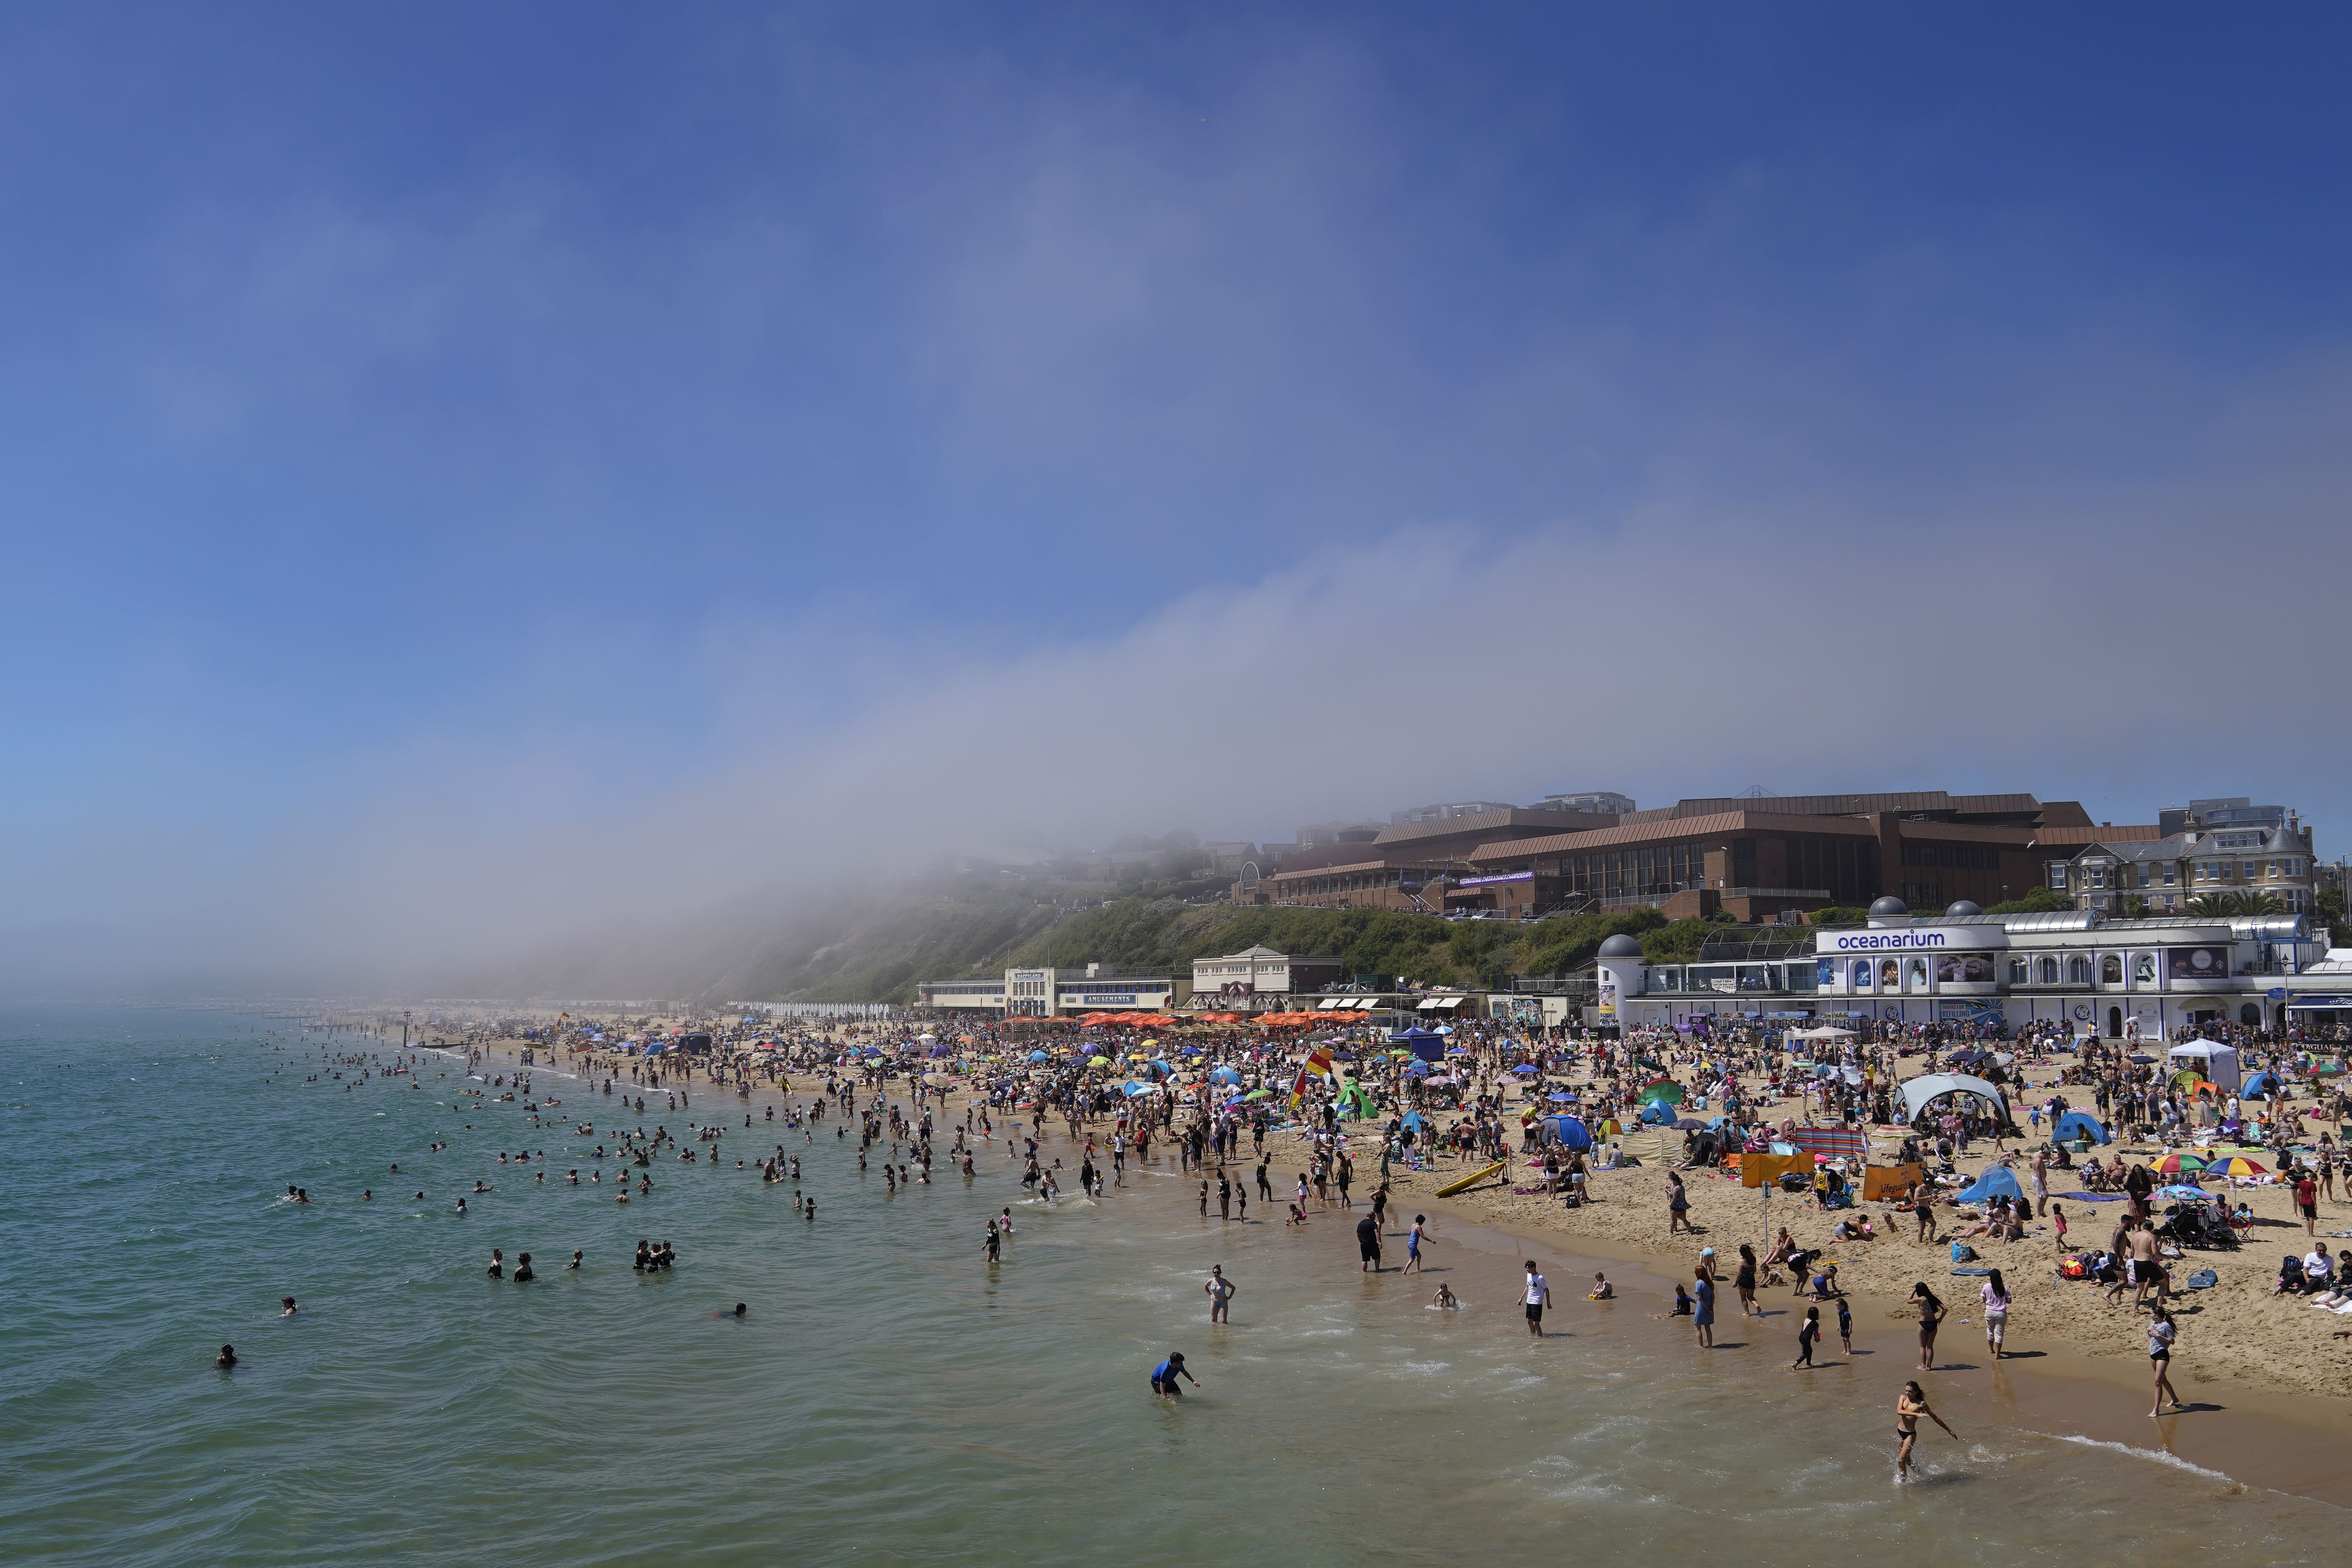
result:
[[(1726, 933), (1729, 936), (1729, 933)], [(2343, 966), (2303, 914), (2110, 919), (2100, 910), (1983, 914), (1955, 903), (1917, 917), (1900, 898), (1863, 929), (1788, 929), (1712, 945), (1693, 964), (1646, 964), (1609, 938), (1597, 1023), (1677, 1025), (1691, 1016), (1872, 1018), (1889, 1023), (2065, 1020), (2074, 1034), (2161, 1039), (2183, 1027), (2284, 1027), (2347, 1004)]]

